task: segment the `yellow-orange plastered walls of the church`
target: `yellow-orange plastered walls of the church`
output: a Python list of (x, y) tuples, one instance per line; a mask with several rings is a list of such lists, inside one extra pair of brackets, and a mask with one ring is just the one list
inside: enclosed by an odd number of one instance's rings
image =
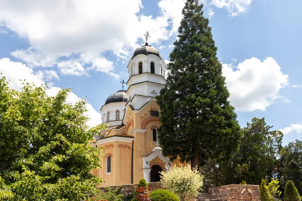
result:
[[(151, 153), (156, 147), (156, 142), (153, 141), (153, 128), (158, 129), (161, 126), (159, 117), (150, 117), (150, 110), (159, 110), (156, 101), (153, 100), (140, 113), (134, 113), (127, 106), (125, 114), (125, 134), (132, 135), (133, 141), (133, 183), (137, 183), (143, 177), (142, 157)], [(145, 132), (144, 132), (145, 130)], [(121, 131), (119, 131), (121, 132)], [(132, 133), (133, 132), (133, 133)], [(121, 135), (112, 130), (110, 136)], [(101, 186), (121, 185), (131, 183), (131, 152), (132, 143), (112, 142), (101, 144), (104, 147), (104, 156), (101, 162), (103, 168), (93, 170), (92, 173), (101, 177), (105, 182)], [(114, 146), (114, 147), (113, 147)], [(112, 154), (111, 158), (111, 174), (106, 174), (106, 158), (107, 154)], [(163, 166), (166, 164), (163, 160), (156, 157), (149, 164), (159, 162)], [(180, 164), (178, 160), (174, 160), (172, 165)]]

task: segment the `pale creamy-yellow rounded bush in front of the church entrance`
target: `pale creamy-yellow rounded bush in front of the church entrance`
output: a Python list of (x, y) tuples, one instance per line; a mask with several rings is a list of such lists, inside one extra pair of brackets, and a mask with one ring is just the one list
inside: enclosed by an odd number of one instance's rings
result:
[(177, 194), (181, 199), (185, 195), (188, 197), (197, 196), (198, 190), (202, 186), (203, 176), (196, 168), (191, 170), (188, 165), (184, 167), (174, 165), (173, 168), (161, 173), (162, 185)]

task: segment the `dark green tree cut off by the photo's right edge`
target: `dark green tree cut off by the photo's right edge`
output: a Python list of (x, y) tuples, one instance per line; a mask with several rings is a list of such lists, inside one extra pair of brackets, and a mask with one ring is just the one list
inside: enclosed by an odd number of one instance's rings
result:
[(286, 181), (292, 180), (302, 194), (302, 141), (290, 142), (282, 149), (278, 172), (283, 189)]

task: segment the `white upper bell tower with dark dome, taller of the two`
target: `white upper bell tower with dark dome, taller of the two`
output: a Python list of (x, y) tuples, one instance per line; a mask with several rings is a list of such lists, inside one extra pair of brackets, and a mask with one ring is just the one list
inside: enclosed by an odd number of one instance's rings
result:
[(146, 42), (136, 48), (127, 68), (129, 79), (126, 82), (126, 93), (131, 105), (138, 110), (147, 102), (148, 97), (158, 95), (166, 84), (166, 64), (158, 49)]

